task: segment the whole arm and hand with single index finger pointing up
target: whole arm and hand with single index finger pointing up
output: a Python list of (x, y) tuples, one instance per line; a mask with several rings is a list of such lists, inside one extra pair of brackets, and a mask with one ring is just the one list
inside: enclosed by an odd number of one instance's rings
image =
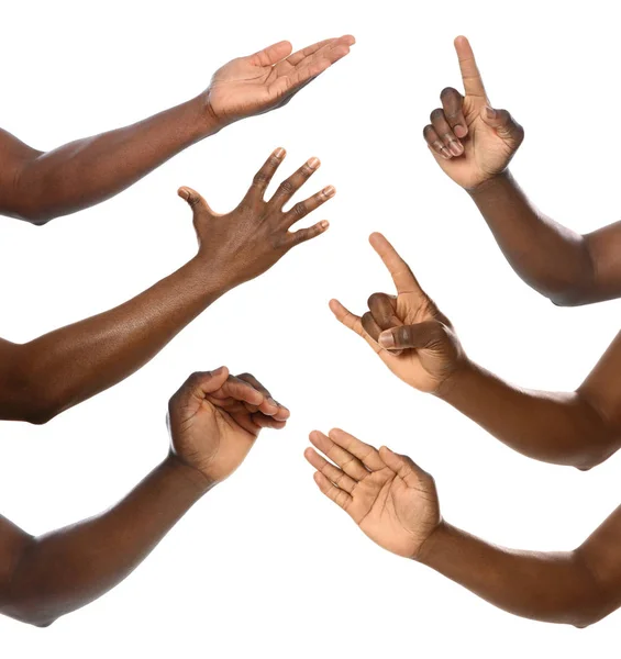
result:
[(494, 109), (468, 41), (455, 40), (465, 96), (451, 87), (431, 113), (424, 137), (443, 171), (485, 217), (511, 267), (555, 304), (621, 295), (621, 222), (578, 234), (539, 211), (509, 171), (524, 131)]

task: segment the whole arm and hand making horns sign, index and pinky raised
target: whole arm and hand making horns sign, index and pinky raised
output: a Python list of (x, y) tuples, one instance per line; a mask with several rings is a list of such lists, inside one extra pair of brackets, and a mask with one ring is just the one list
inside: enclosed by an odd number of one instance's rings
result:
[(589, 469), (621, 446), (621, 334), (574, 392), (514, 387), (466, 356), (448, 319), (381, 235), (372, 245), (397, 295), (374, 293), (362, 317), (333, 300), (331, 309), (365, 338), (401, 380), (433, 393), (529, 457)]

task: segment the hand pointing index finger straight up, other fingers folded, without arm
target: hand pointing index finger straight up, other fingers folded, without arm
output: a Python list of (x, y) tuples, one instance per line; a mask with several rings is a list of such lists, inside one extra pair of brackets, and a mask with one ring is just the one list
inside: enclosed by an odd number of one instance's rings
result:
[(452, 87), (443, 89), (442, 108), (431, 113), (423, 135), (444, 172), (473, 190), (507, 169), (524, 130), (507, 110), (491, 108), (465, 36), (455, 40), (455, 49), (466, 96)]

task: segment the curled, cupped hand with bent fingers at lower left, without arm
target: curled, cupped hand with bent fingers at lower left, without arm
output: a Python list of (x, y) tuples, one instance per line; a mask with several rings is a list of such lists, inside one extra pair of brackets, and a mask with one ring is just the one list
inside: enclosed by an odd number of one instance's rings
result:
[(230, 376), (225, 367), (197, 372), (168, 404), (170, 450), (212, 487), (242, 463), (262, 428), (282, 428), (288, 417), (248, 373)]

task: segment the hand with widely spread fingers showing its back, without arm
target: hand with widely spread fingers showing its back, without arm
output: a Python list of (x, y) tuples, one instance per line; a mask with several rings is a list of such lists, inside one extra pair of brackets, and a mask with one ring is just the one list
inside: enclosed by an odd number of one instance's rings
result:
[(295, 233), (288, 231), (292, 224), (334, 197), (336, 190), (332, 186), (306, 201), (296, 203), (289, 211), (282, 210), (317, 171), (320, 166), (318, 158), (308, 160), (280, 183), (269, 201), (265, 201), (265, 190), (284, 158), (285, 149), (276, 149), (255, 176), (240, 205), (225, 215), (214, 213), (195, 190), (179, 189), (179, 196), (188, 202), (193, 212), (199, 258), (206, 263), (209, 272), (218, 272), (225, 278), (223, 283), (228, 288), (262, 275), (291, 247), (319, 236), (329, 226), (324, 220)]

